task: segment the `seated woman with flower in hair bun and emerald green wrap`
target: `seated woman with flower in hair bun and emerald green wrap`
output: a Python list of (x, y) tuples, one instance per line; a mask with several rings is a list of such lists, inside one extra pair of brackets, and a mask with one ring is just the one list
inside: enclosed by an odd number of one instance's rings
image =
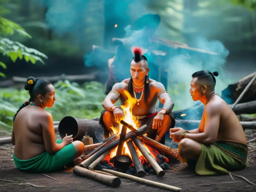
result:
[(80, 163), (74, 159), (84, 152), (84, 144), (73, 142), (72, 135), (55, 141), (52, 115), (44, 110), (54, 105), (54, 86), (45, 79), (28, 77), (24, 88), (29, 91), (30, 99), (13, 118), (12, 144), (15, 145), (13, 160), (16, 167), (25, 172), (46, 173)]

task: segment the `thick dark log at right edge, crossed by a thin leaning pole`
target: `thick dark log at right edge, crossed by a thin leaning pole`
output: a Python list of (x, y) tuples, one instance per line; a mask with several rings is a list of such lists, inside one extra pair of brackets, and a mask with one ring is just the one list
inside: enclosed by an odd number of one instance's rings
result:
[[(230, 84), (226, 89), (221, 92), (222, 98), (229, 104), (234, 103), (247, 84), (252, 80), (256, 72), (244, 77), (236, 83)], [(249, 102), (256, 100), (256, 80), (252, 83), (246, 94), (241, 98), (239, 103)]]

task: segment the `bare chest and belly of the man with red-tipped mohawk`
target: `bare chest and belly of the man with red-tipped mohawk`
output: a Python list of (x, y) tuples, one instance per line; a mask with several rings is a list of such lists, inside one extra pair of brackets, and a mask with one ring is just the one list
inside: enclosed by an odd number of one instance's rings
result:
[[(122, 83), (125, 85), (124, 90), (126, 91), (128, 89), (129, 81), (130, 81), (130, 78), (122, 81)], [(154, 89), (154, 86), (152, 86), (153, 83), (157, 83), (157, 81), (153, 79), (149, 79), (150, 91), (149, 91), (148, 102), (145, 103), (145, 95), (143, 94), (141, 101), (139, 102), (140, 104), (139, 105), (135, 104), (132, 109), (133, 115), (144, 116), (144, 115), (149, 115), (156, 112), (156, 103), (158, 98), (157, 98), (157, 92)], [(126, 100), (127, 100), (127, 97), (123, 93), (121, 93), (120, 104), (123, 105)]]

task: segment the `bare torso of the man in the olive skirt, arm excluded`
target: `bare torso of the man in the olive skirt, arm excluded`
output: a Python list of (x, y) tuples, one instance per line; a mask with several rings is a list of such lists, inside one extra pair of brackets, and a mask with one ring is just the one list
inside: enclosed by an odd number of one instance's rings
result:
[[(217, 140), (231, 140), (240, 143), (247, 143), (243, 128), (236, 114), (231, 110), (228, 104), (218, 95), (213, 95), (207, 105), (219, 104), (220, 124)], [(210, 107), (210, 106), (209, 106)], [(199, 131), (204, 132), (205, 110), (199, 126)]]

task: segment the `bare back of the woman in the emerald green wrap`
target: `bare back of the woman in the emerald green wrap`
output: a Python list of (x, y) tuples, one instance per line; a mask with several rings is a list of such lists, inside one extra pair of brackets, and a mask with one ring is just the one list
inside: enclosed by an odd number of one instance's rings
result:
[(13, 124), (14, 154), (18, 159), (30, 159), (46, 151), (40, 125), (42, 113), (47, 112), (33, 105), (26, 106), (18, 112)]

